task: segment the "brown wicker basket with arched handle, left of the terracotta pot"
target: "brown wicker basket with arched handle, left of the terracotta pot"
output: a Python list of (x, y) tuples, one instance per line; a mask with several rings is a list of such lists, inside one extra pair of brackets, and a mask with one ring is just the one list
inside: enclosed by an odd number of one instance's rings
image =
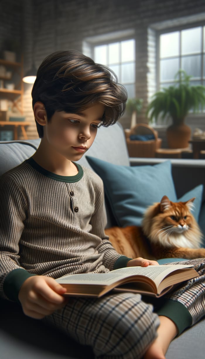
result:
[[(131, 135), (153, 135), (152, 140), (130, 140)], [(158, 132), (146, 123), (138, 123), (130, 131), (125, 131), (127, 149), (130, 157), (155, 157), (155, 151), (161, 147), (162, 139)]]

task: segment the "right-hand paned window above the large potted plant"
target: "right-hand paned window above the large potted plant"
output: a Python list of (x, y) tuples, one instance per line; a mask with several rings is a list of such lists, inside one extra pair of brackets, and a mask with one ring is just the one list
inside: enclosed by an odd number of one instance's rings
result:
[(194, 85), (205, 85), (205, 27), (197, 26), (159, 36), (158, 88), (173, 84), (179, 69)]

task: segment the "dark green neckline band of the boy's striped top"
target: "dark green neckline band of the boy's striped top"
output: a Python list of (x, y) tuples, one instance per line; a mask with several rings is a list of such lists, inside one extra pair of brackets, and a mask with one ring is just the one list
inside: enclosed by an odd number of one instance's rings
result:
[(78, 173), (75, 176), (60, 176), (58, 174), (52, 173), (50, 171), (47, 171), (47, 169), (41, 167), (32, 157), (25, 160), (26, 163), (28, 163), (32, 168), (36, 169), (36, 171), (40, 172), (44, 176), (47, 176), (49, 178), (52, 178), (52, 180), (60, 181), (60, 182), (78, 182), (83, 177), (83, 168), (73, 162), (75, 166), (78, 168)]

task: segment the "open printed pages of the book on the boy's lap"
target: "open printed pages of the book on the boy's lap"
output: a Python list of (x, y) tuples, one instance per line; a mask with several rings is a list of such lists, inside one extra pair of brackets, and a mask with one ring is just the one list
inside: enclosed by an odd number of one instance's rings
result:
[(125, 267), (113, 270), (108, 273), (82, 273), (70, 274), (56, 279), (58, 283), (70, 284), (100, 284), (111, 285), (123, 278), (129, 276), (143, 275), (155, 281), (158, 286), (161, 280), (169, 273), (176, 269), (193, 267), (192, 265), (160, 265), (148, 267)]

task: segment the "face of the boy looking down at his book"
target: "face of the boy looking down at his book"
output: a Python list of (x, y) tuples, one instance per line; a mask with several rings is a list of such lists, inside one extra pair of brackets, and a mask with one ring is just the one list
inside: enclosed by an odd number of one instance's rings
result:
[(102, 104), (95, 104), (79, 113), (55, 112), (42, 140), (52, 155), (78, 161), (93, 144), (104, 111)]

